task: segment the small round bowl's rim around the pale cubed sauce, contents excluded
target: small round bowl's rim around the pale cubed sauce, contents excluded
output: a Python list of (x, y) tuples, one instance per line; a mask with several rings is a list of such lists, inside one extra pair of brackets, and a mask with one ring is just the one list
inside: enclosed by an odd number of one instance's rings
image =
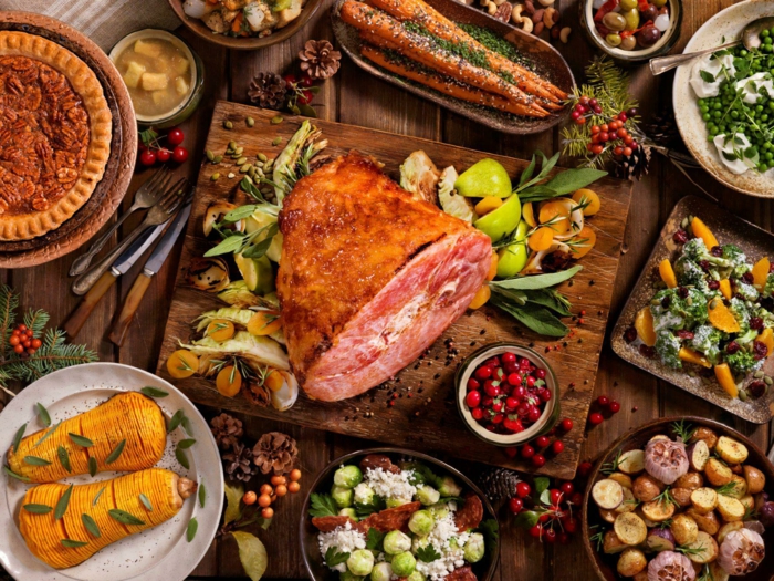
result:
[(184, 40), (175, 34), (171, 34), (170, 32), (167, 32), (166, 30), (157, 29), (138, 30), (137, 32), (133, 32), (132, 34), (124, 37), (116, 43), (115, 46), (113, 46), (109, 54), (111, 61), (113, 61), (115, 64), (124, 50), (129, 44), (140, 39), (161, 39), (169, 41), (181, 50), (188, 58), (188, 61), (191, 63), (192, 79), (190, 92), (188, 96), (184, 98), (175, 108), (163, 115), (144, 116), (137, 113), (137, 108), (135, 107), (135, 117), (140, 127), (153, 126), (159, 129), (174, 127), (175, 125), (178, 125), (190, 117), (201, 101), (201, 95), (205, 92), (205, 64), (201, 62), (199, 55), (195, 53)]

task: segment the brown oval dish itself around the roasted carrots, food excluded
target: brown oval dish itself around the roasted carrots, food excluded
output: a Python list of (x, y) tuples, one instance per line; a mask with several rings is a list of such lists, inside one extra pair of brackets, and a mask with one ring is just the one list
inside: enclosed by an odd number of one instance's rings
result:
[[(575, 87), (575, 77), (573, 76), (573, 72), (569, 70), (569, 65), (558, 53), (558, 51), (544, 40), (541, 40), (533, 34), (529, 34), (511, 24), (496, 20), (475, 7), (469, 7), (461, 2), (457, 2), (456, 0), (426, 1), (432, 8), (454, 22), (462, 24), (474, 24), (477, 27), (487, 28), (496, 33), (499, 37), (513, 44), (524, 56), (530, 59), (535, 64), (535, 72), (537, 74), (551, 81), (562, 91), (568, 94), (572, 93), (573, 89)], [(387, 71), (376, 66), (369, 60), (360, 56), (360, 39), (357, 30), (354, 27), (346, 24), (338, 17), (338, 7), (342, 2), (343, 0), (338, 0), (331, 9), (333, 33), (336, 37), (341, 48), (353, 61), (355, 61), (355, 64), (378, 79), (383, 79), (388, 83), (398, 85), (409, 93), (414, 93), (422, 98), (432, 101), (433, 103), (448, 108), (453, 113), (475, 121), (477, 123), (485, 125), (487, 127), (514, 135), (530, 135), (533, 133), (544, 132), (554, 125), (557, 125), (569, 114), (569, 107), (565, 107), (564, 111), (559, 112), (558, 114), (552, 114), (544, 118), (517, 117), (509, 113), (502, 113), (492, 108), (460, 101), (427, 86), (405, 81), (393, 73), (388, 73)]]

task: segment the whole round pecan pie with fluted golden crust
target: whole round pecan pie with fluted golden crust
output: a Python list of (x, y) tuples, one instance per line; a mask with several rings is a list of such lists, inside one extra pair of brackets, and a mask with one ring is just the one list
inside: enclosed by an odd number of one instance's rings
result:
[(0, 241), (59, 228), (102, 179), (112, 115), (94, 72), (65, 48), (0, 32)]

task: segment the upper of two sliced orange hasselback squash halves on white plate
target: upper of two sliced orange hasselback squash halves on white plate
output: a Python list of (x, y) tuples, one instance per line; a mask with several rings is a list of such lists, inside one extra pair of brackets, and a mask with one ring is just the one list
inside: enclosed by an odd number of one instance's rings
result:
[[(77, 444), (80, 438), (73, 439), (71, 434), (87, 438), (92, 445)], [(127, 392), (59, 426), (24, 437), (15, 452), (8, 450), (8, 466), (31, 483), (55, 483), (88, 474), (90, 458), (96, 460), (100, 471), (150, 468), (161, 459), (166, 444), (167, 426), (158, 404), (138, 392)], [(71, 470), (61, 459), (60, 447), (66, 453)], [(109, 459), (113, 461), (107, 464)]]

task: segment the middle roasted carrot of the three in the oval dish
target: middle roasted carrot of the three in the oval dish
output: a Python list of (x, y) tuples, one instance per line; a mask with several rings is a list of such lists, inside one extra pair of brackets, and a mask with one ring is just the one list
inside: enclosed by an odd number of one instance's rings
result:
[(422, 64), (435, 71), (484, 91), (502, 95), (515, 103), (533, 107), (538, 113), (545, 112), (534, 102), (534, 97), (527, 95), (515, 85), (491, 71), (475, 66), (461, 56), (433, 45), (429, 39), (409, 32), (400, 22), (380, 10), (375, 10), (368, 4), (356, 0), (346, 0), (341, 8), (341, 17), (347, 24), (393, 43), (405, 56), (411, 60), (420, 60)]

